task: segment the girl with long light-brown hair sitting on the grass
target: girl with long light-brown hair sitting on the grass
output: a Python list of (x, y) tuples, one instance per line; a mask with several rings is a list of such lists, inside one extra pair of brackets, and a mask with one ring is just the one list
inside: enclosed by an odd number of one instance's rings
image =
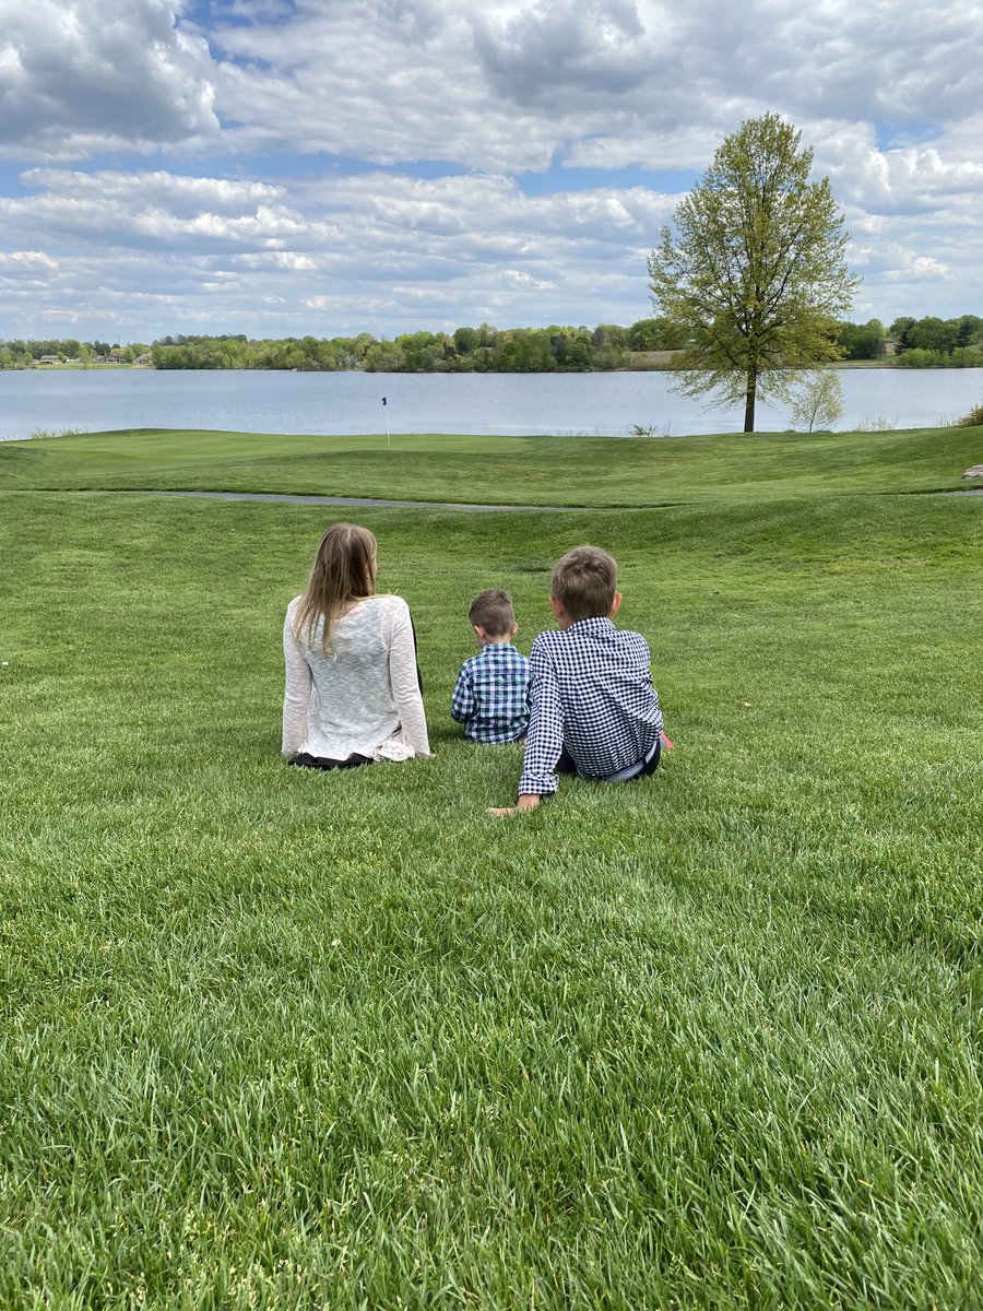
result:
[(430, 755), (409, 606), (376, 597), (376, 540), (336, 523), (311, 581), (287, 607), (283, 754), (345, 770)]

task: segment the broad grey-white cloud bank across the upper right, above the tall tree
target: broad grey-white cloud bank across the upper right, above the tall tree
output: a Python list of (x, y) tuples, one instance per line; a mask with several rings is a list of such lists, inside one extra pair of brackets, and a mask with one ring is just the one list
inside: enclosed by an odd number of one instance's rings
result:
[(298, 0), (288, 21), (240, 4), (210, 38), (218, 104), (241, 148), (506, 172), (568, 157), (692, 169), (769, 108), (891, 130), (974, 113), (983, 9)]

